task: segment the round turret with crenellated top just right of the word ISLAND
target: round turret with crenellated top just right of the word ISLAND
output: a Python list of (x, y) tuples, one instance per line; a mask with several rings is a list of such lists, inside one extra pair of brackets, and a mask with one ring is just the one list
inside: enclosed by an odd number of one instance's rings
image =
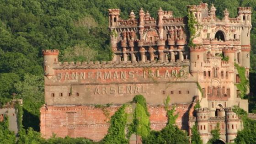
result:
[(190, 48), (190, 72), (197, 73), (203, 71), (203, 62), (204, 62), (204, 48), (195, 47)]

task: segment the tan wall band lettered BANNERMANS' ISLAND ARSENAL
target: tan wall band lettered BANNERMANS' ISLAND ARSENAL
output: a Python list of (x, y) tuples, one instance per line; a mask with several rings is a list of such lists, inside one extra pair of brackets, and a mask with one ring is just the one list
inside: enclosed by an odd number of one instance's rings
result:
[(197, 93), (196, 80), (181, 66), (55, 69), (51, 79), (45, 77), (48, 105), (123, 104), (138, 94), (154, 105), (166, 95), (171, 103), (186, 103)]

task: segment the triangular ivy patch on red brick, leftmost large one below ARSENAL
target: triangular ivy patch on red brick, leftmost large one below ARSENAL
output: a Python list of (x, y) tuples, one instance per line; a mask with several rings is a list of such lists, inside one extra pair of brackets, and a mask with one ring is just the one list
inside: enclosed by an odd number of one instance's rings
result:
[(126, 107), (127, 105), (124, 104), (111, 117), (107, 135), (101, 140), (103, 144), (128, 144), (128, 139), (125, 137), (125, 127), (128, 115), (125, 112)]

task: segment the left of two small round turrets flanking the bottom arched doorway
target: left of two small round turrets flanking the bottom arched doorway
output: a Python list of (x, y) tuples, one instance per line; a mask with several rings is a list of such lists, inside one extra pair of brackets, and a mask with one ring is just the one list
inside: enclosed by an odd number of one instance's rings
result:
[(208, 108), (197, 109), (197, 127), (204, 144), (208, 141), (208, 117)]

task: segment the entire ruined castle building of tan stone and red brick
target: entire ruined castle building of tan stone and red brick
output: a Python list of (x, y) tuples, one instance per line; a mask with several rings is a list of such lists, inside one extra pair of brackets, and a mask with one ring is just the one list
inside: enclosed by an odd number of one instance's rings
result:
[[(189, 47), (187, 17), (159, 8), (157, 18), (140, 9), (123, 20), (119, 9), (109, 9), (112, 60), (102, 62), (59, 62), (58, 50), (43, 50), (45, 102), (41, 108), (41, 133), (49, 138), (86, 137), (100, 141), (109, 117), (96, 104), (106, 105), (110, 115), (135, 95), (145, 97), (151, 128), (167, 123), (163, 101), (171, 97), (176, 106), (176, 124), (191, 134), (195, 122), (206, 144), (211, 130), (220, 125), (220, 140), (232, 142), (241, 130), (238, 106), (248, 112), (248, 101), (240, 98), (240, 75), (236, 64), (249, 77), (251, 8), (238, 8), (238, 16), (216, 17), (208, 4), (189, 5), (198, 24), (194, 46)], [(200, 109), (194, 110), (196, 102)], [(61, 115), (59, 117), (59, 115)], [(251, 117), (254, 117), (251, 115)]]

